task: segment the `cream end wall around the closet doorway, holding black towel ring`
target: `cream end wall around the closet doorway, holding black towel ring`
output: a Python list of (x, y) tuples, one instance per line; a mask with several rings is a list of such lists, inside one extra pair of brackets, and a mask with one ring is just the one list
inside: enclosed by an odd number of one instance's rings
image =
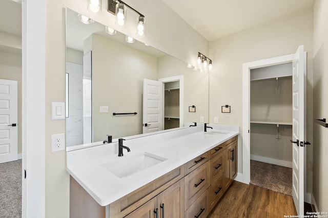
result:
[[(289, 55), (299, 45), (308, 51), (308, 96), (312, 95), (313, 11), (245, 30), (210, 42), (213, 68), (210, 73), (210, 123), (242, 127), (242, 63)], [(312, 98), (308, 98), (308, 140), (312, 140)], [(221, 113), (222, 105), (231, 105), (231, 113)], [(242, 129), (240, 130), (242, 132)], [(242, 144), (238, 140), (238, 172), (242, 173)], [(312, 147), (308, 148), (308, 165), (312, 166)], [(311, 177), (312, 178), (312, 177)], [(308, 177), (308, 191), (312, 179)], [(310, 183), (310, 185), (309, 185)]]

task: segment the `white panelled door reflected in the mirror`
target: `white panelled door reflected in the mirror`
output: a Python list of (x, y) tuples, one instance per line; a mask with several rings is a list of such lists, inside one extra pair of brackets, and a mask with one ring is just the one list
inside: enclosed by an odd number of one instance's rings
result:
[(163, 83), (144, 79), (143, 133), (162, 130)]

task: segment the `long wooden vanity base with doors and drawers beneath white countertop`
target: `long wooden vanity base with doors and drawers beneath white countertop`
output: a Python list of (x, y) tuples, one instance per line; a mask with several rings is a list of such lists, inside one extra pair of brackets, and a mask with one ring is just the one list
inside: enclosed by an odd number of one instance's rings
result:
[(70, 217), (207, 217), (237, 175), (237, 136), (103, 207), (70, 178)]

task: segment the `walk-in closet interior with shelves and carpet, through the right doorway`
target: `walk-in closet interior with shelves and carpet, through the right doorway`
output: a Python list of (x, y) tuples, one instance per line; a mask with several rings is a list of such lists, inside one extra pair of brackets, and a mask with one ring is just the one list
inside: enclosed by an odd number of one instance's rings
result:
[(251, 183), (292, 195), (292, 63), (251, 70)]

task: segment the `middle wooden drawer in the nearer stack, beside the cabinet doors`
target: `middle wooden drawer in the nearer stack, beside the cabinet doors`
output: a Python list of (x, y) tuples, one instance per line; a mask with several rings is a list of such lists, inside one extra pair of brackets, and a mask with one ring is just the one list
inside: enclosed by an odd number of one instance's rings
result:
[(185, 177), (185, 210), (209, 187), (209, 162)]

